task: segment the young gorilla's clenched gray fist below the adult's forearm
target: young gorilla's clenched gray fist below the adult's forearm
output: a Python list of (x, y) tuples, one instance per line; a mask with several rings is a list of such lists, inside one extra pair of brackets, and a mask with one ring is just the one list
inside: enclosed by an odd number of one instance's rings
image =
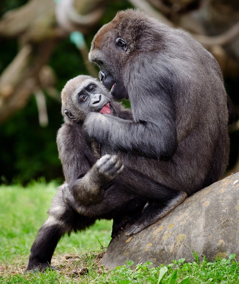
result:
[(101, 157), (95, 164), (96, 170), (103, 179), (112, 181), (118, 175), (122, 174), (125, 170), (122, 161), (119, 160), (117, 155), (106, 154)]

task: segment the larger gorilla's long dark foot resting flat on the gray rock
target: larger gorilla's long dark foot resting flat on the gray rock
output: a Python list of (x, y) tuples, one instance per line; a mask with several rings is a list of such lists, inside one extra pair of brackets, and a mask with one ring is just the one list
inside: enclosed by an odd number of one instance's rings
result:
[(142, 231), (144, 228), (152, 225), (163, 219), (168, 215), (175, 207), (181, 204), (188, 197), (186, 192), (180, 192), (175, 198), (169, 200), (166, 206), (162, 207), (162, 203), (151, 202), (145, 208), (140, 219), (135, 222), (125, 233), (126, 236), (131, 236)]

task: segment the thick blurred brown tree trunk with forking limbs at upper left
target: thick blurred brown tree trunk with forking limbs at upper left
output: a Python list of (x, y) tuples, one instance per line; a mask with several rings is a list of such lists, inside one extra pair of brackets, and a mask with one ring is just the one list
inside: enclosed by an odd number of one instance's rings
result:
[(0, 76), (0, 123), (46, 87), (39, 72), (57, 42), (73, 30), (87, 33), (102, 16), (103, 7), (102, 0), (62, 0), (59, 7), (54, 0), (30, 0), (4, 14), (0, 37), (17, 37), (19, 52)]

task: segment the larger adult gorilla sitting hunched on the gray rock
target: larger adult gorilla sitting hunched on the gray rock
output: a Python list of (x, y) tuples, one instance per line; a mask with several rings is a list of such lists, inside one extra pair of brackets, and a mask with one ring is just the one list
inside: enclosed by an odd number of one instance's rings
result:
[[(127, 234), (137, 233), (183, 196), (223, 174), (232, 103), (212, 54), (188, 33), (139, 10), (121, 11), (104, 25), (93, 39), (89, 59), (100, 66), (100, 80), (106, 88), (112, 86), (111, 94), (131, 102), (133, 121), (90, 113), (84, 131), (104, 146), (102, 155), (131, 154), (128, 160), (119, 155), (125, 169), (132, 180), (145, 178), (141, 188), (131, 188), (132, 194), (149, 199)], [(155, 186), (148, 187), (147, 179)], [(167, 196), (171, 200), (162, 204)]]

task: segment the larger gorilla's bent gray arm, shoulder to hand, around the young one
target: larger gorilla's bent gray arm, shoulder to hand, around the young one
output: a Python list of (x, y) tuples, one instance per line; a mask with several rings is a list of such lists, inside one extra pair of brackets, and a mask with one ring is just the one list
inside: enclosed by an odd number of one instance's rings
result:
[[(114, 150), (134, 152), (148, 158), (170, 159), (177, 149), (172, 101), (177, 79), (167, 58), (163, 59), (157, 53), (140, 52), (129, 58), (120, 73), (123, 74), (122, 79), (119, 83), (116, 81), (111, 95), (120, 97), (119, 94), (123, 93), (124, 97), (128, 97), (134, 121), (90, 113), (85, 120), (84, 131), (88, 132), (89, 138)], [(107, 74), (105, 80), (115, 80), (110, 77)]]

